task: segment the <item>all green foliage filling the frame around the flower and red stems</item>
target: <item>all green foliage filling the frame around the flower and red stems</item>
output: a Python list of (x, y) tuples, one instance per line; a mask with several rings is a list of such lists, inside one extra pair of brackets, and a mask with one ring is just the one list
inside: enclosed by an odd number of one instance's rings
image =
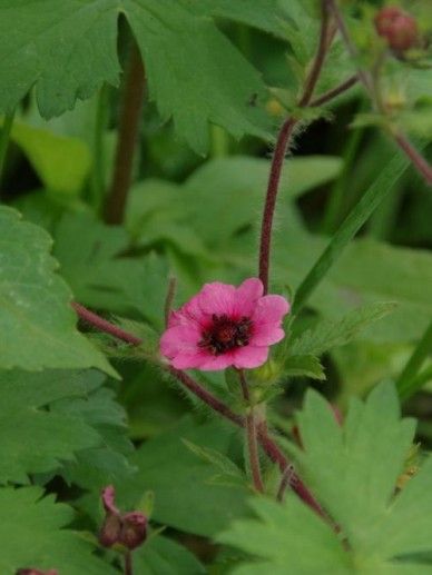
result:
[[(382, 48), (381, 4), (343, 3), (364, 67)], [(428, 0), (410, 4), (430, 30)], [(136, 575), (432, 573), (430, 359), (402, 406), (394, 386), (432, 318), (431, 189), (359, 86), (298, 110), (318, 12), (314, 0), (0, 0), (0, 148), (13, 116), (0, 207), (1, 574), (120, 573), (121, 555), (96, 537), (108, 484), (124, 509), (155, 496)], [(108, 226), (134, 38), (147, 98), (125, 221)], [(422, 58), (389, 57), (382, 82), (399, 102), (392, 126), (430, 158)], [(354, 71), (336, 37), (317, 93)], [(338, 533), (291, 493), (275, 503), (279, 474), (263, 454), (266, 496), (253, 495), (242, 432), (149, 359), (171, 276), (179, 306), (206, 281), (257, 274), (269, 152), (289, 113), (302, 128), (281, 181), (272, 291), (311, 298), (253, 379)], [(72, 299), (143, 348), (77, 326)], [(229, 374), (196, 377), (239, 407)], [(401, 408), (419, 419), (414, 463)]]

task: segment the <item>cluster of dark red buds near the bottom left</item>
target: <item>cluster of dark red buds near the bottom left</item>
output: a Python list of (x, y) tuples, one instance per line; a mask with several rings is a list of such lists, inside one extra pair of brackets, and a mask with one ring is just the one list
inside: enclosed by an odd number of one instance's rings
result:
[(116, 493), (112, 485), (102, 489), (105, 519), (99, 533), (99, 542), (104, 547), (120, 544), (129, 551), (139, 547), (147, 537), (147, 517), (139, 512), (121, 514), (116, 507)]

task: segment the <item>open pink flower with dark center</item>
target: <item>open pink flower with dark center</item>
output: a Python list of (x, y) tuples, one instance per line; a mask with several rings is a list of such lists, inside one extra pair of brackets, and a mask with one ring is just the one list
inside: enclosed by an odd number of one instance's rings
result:
[(177, 369), (253, 368), (264, 364), (268, 346), (284, 338), (282, 318), (289, 304), (282, 296), (263, 296), (257, 278), (238, 288), (215, 281), (169, 318), (160, 353)]

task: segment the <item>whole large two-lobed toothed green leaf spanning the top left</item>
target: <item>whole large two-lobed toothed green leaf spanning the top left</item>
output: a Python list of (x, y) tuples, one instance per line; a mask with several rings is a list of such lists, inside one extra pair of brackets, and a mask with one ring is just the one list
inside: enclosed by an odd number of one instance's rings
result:
[(3, 0), (0, 7), (0, 110), (13, 109), (36, 85), (46, 118), (73, 108), (104, 82), (118, 85), (118, 17), (143, 54), (150, 98), (197, 152), (208, 122), (236, 138), (269, 139), (258, 72), (199, 10), (177, 0)]

